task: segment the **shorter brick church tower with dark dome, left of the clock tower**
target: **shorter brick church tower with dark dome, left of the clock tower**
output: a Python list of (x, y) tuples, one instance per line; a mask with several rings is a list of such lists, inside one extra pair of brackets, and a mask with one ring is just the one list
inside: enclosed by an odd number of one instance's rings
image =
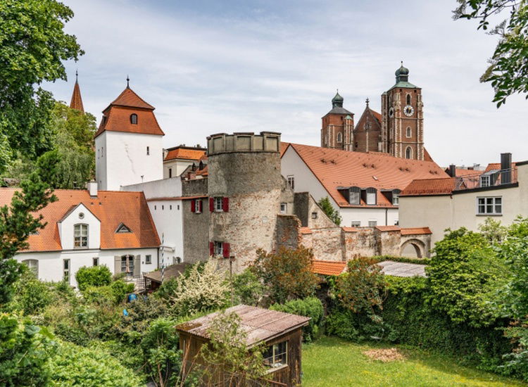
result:
[(354, 113), (343, 108), (343, 97), (337, 91), (332, 110), (322, 118), (321, 146), (353, 151)]

